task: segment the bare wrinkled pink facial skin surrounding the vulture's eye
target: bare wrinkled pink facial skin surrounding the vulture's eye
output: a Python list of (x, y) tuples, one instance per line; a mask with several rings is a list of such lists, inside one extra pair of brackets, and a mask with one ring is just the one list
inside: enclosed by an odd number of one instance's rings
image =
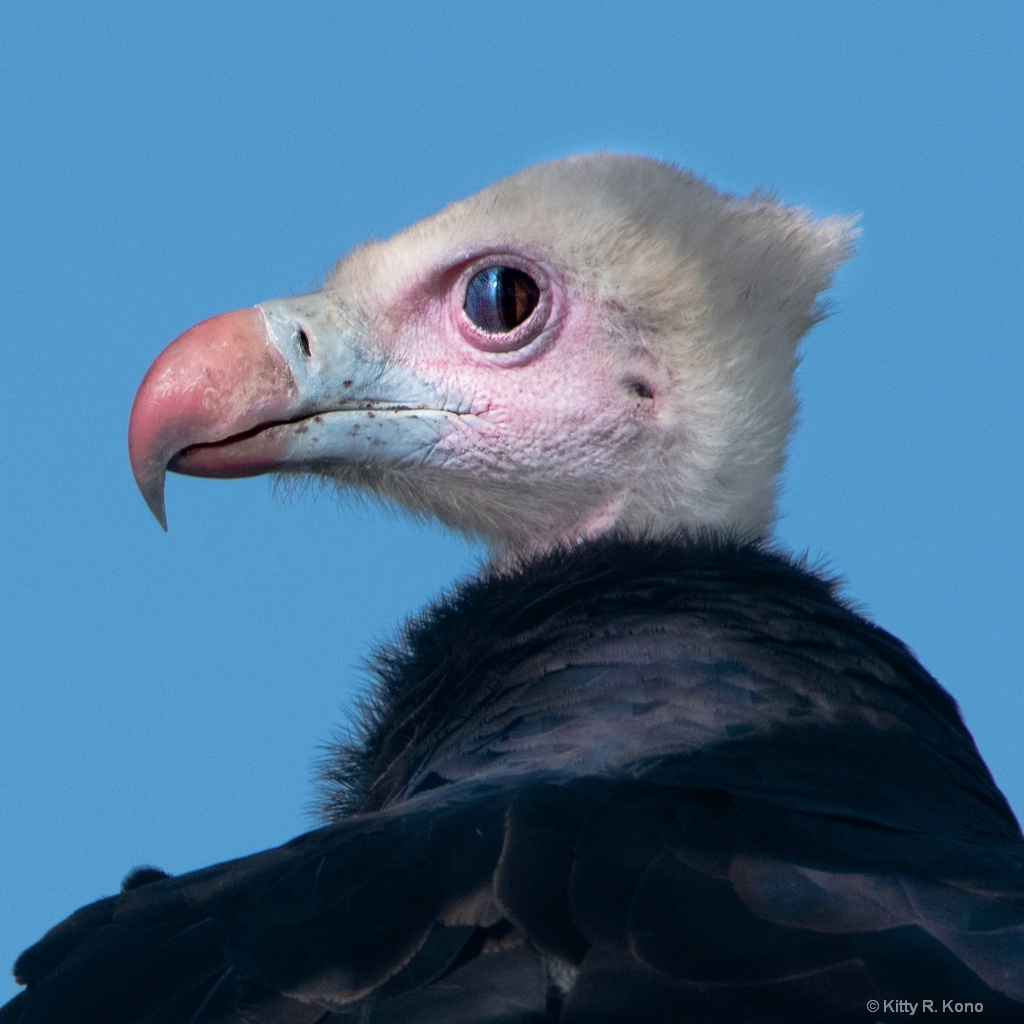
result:
[[(505, 335), (481, 331), (463, 308), (468, 280), (495, 265), (522, 269), (541, 288), (532, 314)], [(596, 297), (522, 249), (476, 251), (382, 305), (386, 315), (371, 323), (401, 325), (375, 339), (389, 359), (468, 401), (473, 415), (454, 421), (438, 444), (452, 470), (607, 479), (612, 468), (622, 473), (624, 452), (655, 415), (653, 401), (630, 392)]]

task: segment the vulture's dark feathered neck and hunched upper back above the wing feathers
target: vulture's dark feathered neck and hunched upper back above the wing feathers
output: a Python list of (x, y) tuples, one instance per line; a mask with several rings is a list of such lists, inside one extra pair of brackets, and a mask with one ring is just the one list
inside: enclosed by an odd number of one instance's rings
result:
[[(326, 815), (460, 779), (643, 777), (667, 764), (703, 764), (686, 769), (701, 785), (719, 784), (724, 765), (756, 788), (771, 772), (752, 774), (752, 764), (815, 764), (843, 746), (857, 765), (904, 735), (901, 757), (923, 763), (894, 771), (892, 792), (871, 795), (871, 814), (888, 803), (897, 820), (910, 800), (922, 814), (954, 817), (941, 787), (937, 807), (905, 792), (906, 779), (941, 777), (929, 758), (952, 751), (979, 766), (985, 827), (1016, 828), (954, 701), (835, 590), (763, 546), (686, 535), (604, 536), (492, 570), (378, 652), (359, 742), (326, 764)], [(867, 812), (861, 781), (856, 772), (835, 781), (836, 813)], [(963, 806), (973, 829), (977, 801)]]

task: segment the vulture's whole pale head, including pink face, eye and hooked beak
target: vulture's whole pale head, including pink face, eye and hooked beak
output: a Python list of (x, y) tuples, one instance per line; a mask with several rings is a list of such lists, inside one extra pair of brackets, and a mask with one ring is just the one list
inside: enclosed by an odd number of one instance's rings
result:
[(193, 328), (136, 478), (313, 474), (521, 556), (609, 529), (765, 536), (797, 344), (852, 222), (638, 157), (529, 168)]

